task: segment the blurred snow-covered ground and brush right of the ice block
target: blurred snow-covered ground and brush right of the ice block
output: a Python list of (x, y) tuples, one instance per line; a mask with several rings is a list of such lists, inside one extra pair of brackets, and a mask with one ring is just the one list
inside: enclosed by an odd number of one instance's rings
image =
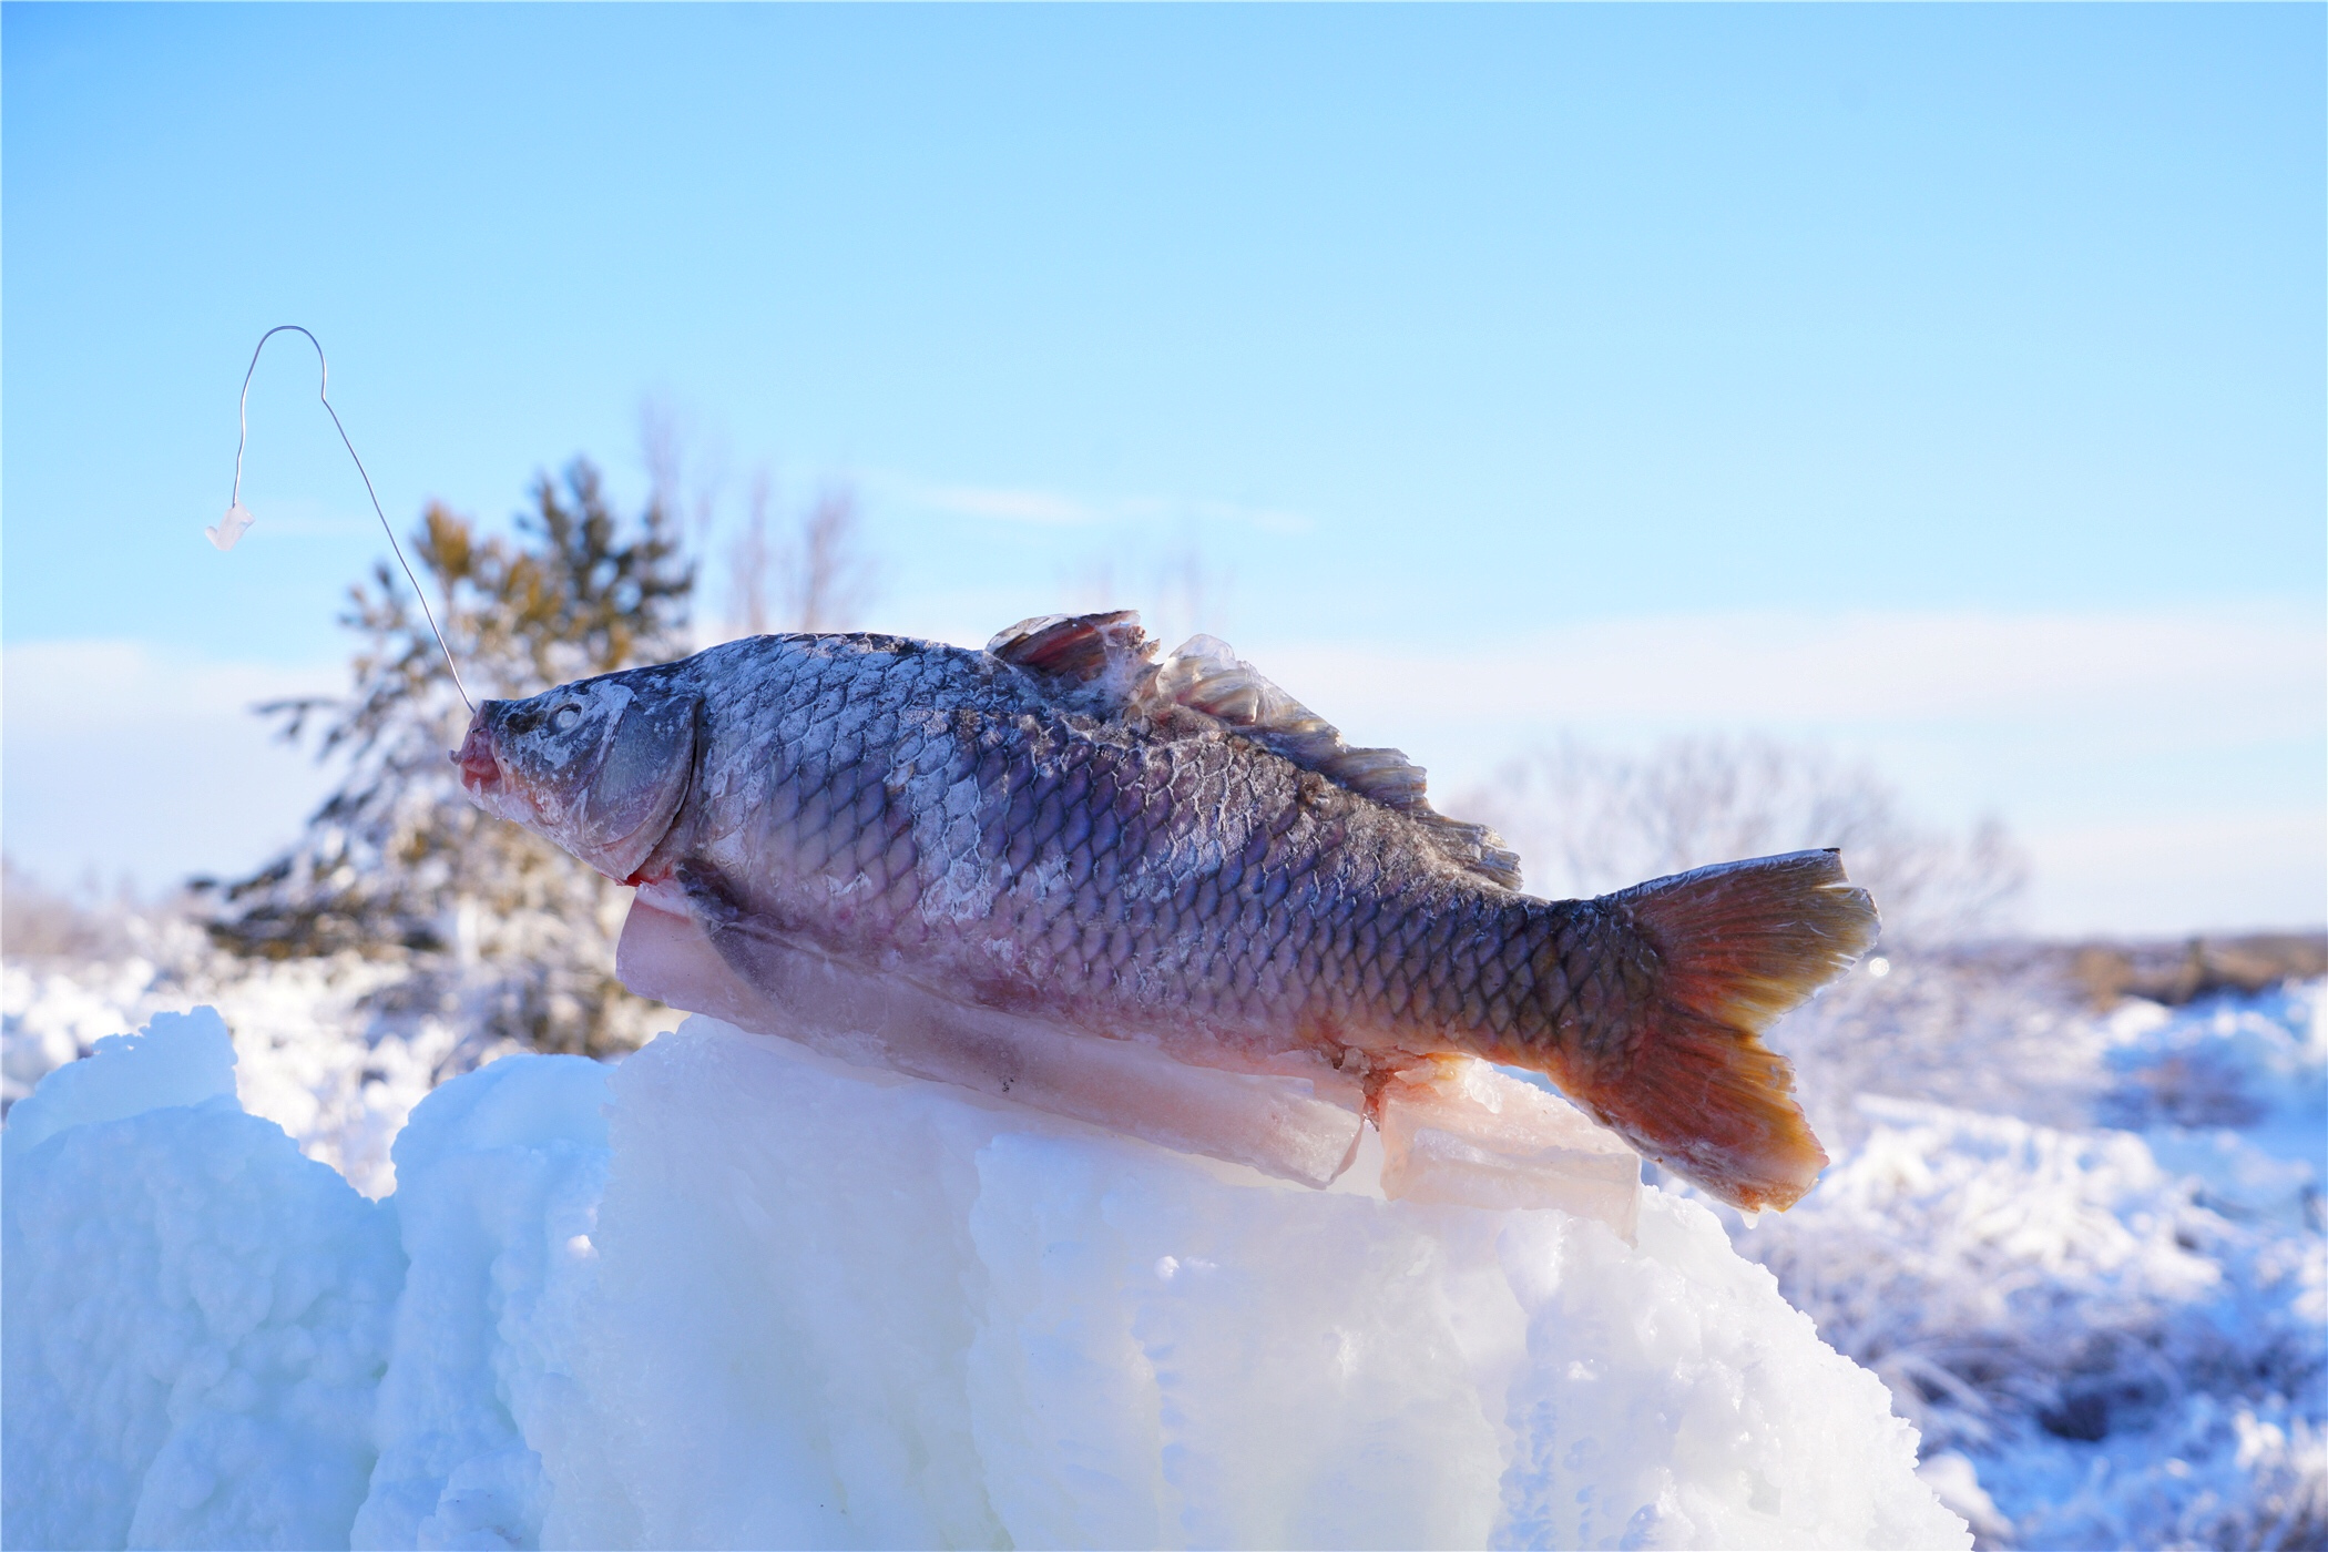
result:
[(2312, 984), (2070, 1019), (2105, 1126), (1862, 1094), (1862, 1140), (1739, 1233), (1886, 1377), (1986, 1543), (2328, 1538), (2321, 1008)]

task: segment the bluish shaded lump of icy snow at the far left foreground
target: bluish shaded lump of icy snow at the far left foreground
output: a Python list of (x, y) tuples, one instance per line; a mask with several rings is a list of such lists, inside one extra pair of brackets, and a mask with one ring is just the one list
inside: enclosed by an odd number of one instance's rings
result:
[(98, 1040), (5, 1135), (14, 1547), (345, 1543), (393, 1215), (235, 1103), (217, 1015)]

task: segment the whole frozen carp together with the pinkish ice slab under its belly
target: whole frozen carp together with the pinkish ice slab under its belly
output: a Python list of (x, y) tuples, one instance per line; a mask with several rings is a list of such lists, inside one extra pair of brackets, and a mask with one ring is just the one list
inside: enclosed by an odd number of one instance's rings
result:
[(636, 889), (626, 987), (747, 1031), (1306, 1184), (1371, 1122), (1478, 1180), (1811, 1189), (1762, 1035), (1874, 945), (1839, 852), (1534, 898), (1401, 752), (1157, 647), (1129, 610), (759, 635), (487, 700), (452, 759)]

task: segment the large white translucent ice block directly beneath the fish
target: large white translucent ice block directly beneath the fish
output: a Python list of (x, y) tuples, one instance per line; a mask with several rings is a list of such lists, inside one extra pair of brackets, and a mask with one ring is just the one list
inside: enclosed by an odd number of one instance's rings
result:
[(1320, 1194), (710, 1019), (610, 1089), (542, 1545), (1967, 1545), (1660, 1191)]

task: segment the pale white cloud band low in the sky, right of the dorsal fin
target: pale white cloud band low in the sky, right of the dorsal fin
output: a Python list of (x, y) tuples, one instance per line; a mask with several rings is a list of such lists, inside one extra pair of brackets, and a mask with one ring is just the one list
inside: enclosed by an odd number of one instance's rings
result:
[(2328, 914), (2328, 631), (2300, 607), (1674, 614), (1460, 647), (1238, 647), (1355, 742), (1418, 756), (1455, 805), (1562, 735), (1769, 731), (1872, 759), (1925, 819), (2000, 812), (2037, 863), (2039, 933)]

